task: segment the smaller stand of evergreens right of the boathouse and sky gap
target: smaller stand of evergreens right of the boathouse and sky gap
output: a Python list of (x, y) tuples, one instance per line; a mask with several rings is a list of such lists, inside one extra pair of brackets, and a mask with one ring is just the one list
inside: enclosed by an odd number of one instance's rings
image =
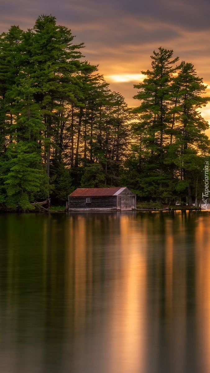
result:
[(135, 85), (141, 100), (132, 125), (136, 141), (125, 162), (124, 182), (142, 199), (192, 205), (204, 188), (204, 162), (209, 159), (209, 128), (200, 109), (210, 101), (203, 79), (191, 63), (173, 58), (173, 50), (159, 48), (151, 56), (151, 70)]

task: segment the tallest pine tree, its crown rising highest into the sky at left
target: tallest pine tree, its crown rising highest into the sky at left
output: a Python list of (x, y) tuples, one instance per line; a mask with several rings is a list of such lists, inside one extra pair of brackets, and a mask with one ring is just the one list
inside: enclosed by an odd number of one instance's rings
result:
[(65, 104), (78, 103), (82, 95), (77, 75), (82, 57), (79, 48), (73, 45), (74, 36), (65, 26), (56, 24), (53, 16), (40, 16), (35, 22), (30, 43), (28, 74), (34, 82), (34, 98), (40, 105), (45, 125), (44, 149), (48, 177), (50, 155), (60, 125), (60, 113)]

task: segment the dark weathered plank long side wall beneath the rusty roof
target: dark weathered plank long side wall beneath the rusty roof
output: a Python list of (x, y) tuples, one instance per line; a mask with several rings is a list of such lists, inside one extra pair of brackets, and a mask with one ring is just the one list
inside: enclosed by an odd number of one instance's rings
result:
[(86, 202), (87, 197), (69, 197), (69, 210), (116, 210), (117, 196), (91, 197), (91, 202)]

